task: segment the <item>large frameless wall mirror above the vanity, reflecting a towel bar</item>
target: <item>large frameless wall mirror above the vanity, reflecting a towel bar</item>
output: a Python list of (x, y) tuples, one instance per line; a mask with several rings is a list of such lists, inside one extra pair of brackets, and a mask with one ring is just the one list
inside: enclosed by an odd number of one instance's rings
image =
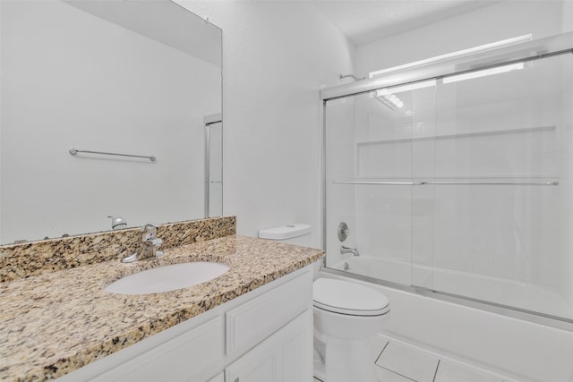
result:
[(218, 27), (168, 0), (0, 6), (0, 243), (222, 213)]

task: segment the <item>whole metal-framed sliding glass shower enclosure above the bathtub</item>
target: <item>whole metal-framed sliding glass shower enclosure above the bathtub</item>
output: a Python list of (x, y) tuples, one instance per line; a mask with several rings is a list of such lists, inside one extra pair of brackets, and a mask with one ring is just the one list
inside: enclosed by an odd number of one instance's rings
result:
[(326, 271), (569, 327), (572, 53), (563, 34), (323, 89)]

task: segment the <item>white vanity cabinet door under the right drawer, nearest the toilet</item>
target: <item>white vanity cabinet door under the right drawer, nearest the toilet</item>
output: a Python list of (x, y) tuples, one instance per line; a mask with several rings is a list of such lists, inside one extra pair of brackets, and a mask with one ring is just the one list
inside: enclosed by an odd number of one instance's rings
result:
[(312, 310), (305, 310), (225, 369), (225, 382), (312, 381)]

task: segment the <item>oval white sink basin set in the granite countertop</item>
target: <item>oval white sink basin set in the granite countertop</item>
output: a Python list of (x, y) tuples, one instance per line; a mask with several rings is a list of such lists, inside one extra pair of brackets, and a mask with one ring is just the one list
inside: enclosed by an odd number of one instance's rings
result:
[(201, 284), (223, 275), (229, 270), (225, 264), (199, 261), (156, 267), (109, 284), (107, 292), (120, 294), (148, 294), (175, 291)]

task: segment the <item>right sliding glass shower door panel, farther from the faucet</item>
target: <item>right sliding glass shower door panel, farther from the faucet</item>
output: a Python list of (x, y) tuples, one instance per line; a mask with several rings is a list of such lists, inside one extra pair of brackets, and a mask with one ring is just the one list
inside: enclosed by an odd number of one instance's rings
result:
[(571, 68), (558, 55), (437, 86), (421, 286), (573, 318)]

